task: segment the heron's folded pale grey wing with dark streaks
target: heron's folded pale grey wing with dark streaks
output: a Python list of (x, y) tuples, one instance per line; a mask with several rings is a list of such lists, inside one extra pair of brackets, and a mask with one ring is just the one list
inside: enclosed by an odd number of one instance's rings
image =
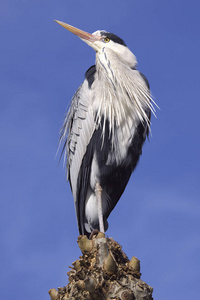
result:
[(71, 101), (60, 137), (60, 140), (64, 142), (63, 151), (65, 158), (67, 156), (67, 179), (70, 181), (75, 202), (79, 171), (94, 130), (92, 92), (85, 80)]

